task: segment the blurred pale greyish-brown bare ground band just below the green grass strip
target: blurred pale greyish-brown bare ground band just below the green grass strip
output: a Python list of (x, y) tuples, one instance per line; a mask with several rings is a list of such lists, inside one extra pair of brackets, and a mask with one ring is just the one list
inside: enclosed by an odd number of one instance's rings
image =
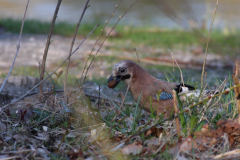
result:
[[(18, 34), (1, 33), (0, 35), (0, 67), (3, 72), (4, 69), (8, 69), (13, 61), (16, 53), (16, 45), (18, 42)], [(18, 57), (15, 62), (15, 67), (19, 66), (39, 66), (39, 62), (42, 61), (43, 52), (45, 49), (47, 35), (35, 35), (35, 34), (23, 34), (21, 40), (21, 48), (18, 53)], [(82, 37), (78, 37), (75, 41), (73, 48), (76, 48), (82, 41)], [(52, 63), (56, 63), (64, 60), (69, 52), (71, 45), (71, 37), (62, 37), (58, 35), (52, 36), (52, 42), (48, 51), (48, 57), (46, 65), (49, 67)], [(79, 50), (72, 56), (72, 59), (83, 59), (89, 54), (93, 48), (95, 39), (87, 39)], [(140, 58), (155, 57), (161, 59), (167, 59), (171, 61), (171, 54), (165, 53), (162, 48), (152, 48), (149, 46), (129, 46), (131, 42), (126, 42), (122, 46), (113, 44), (108, 41), (104, 43), (98, 55), (118, 55), (118, 57), (126, 57), (126, 59), (137, 58), (134, 51), (134, 47), (137, 48)], [(95, 47), (95, 51), (99, 48), (100, 43)], [(121, 48), (121, 49), (116, 49)], [(129, 48), (128, 50), (126, 48)], [(186, 51), (171, 50), (174, 53), (174, 58), (177, 61), (191, 63), (202, 63), (204, 60), (204, 49), (199, 46), (191, 46)], [(95, 53), (95, 52), (94, 52)], [(162, 53), (161, 56), (156, 54)], [(151, 55), (150, 55), (151, 54)], [(147, 63), (147, 62), (146, 62)], [(163, 63), (164, 62), (158, 62)], [(226, 61), (223, 57), (216, 54), (208, 54), (207, 64), (222, 67), (223, 65), (229, 65), (232, 62)], [(1, 73), (0, 73), (1, 74)]]

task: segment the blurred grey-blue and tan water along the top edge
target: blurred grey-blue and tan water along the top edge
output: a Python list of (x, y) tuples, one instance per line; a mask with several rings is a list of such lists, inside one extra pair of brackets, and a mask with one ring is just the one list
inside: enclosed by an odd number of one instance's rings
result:
[[(26, 0), (1, 0), (0, 18), (22, 19), (26, 2)], [(50, 22), (56, 2), (56, 0), (30, 1), (27, 19)], [(119, 2), (119, 0), (91, 0), (91, 7), (87, 10), (83, 23), (105, 22)], [(123, 1), (116, 15), (125, 12), (133, 2)], [(57, 21), (76, 23), (84, 5), (84, 0), (63, 0)], [(189, 20), (194, 20), (209, 28), (215, 5), (215, 0), (140, 0), (131, 8), (121, 24), (188, 29)], [(238, 0), (221, 0), (213, 27), (221, 30), (238, 29), (239, 6)], [(113, 17), (110, 23), (113, 24), (117, 19), (118, 16)]]

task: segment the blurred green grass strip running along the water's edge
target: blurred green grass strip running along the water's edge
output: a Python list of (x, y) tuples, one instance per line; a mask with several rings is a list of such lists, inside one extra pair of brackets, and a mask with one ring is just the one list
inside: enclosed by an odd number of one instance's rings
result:
[[(6, 31), (19, 33), (21, 21), (14, 19), (1, 19), (0, 26)], [(81, 24), (79, 36), (86, 36), (95, 26), (95, 24)], [(102, 25), (101, 25), (102, 26)], [(93, 33), (92, 37), (96, 37), (101, 32), (101, 26)], [(75, 24), (59, 22), (55, 24), (53, 34), (62, 36), (72, 36), (75, 31)], [(49, 22), (37, 20), (25, 20), (23, 33), (31, 34), (47, 34), (50, 28)], [(154, 26), (135, 27), (118, 25), (116, 30), (120, 36), (109, 37), (108, 40), (116, 44), (125, 44), (126, 41), (131, 42), (133, 46), (143, 44), (152, 47), (180, 48), (186, 46), (201, 45), (206, 46), (207, 31), (202, 30), (176, 30), (163, 29)], [(103, 35), (104, 36), (104, 35)], [(236, 54), (238, 53), (240, 43), (240, 31), (225, 34), (220, 30), (214, 30), (211, 35), (209, 49), (215, 53)], [(231, 51), (231, 52), (229, 52)]]

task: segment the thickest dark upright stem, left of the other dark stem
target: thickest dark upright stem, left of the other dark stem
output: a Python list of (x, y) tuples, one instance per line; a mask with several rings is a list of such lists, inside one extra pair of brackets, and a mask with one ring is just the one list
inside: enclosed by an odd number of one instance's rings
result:
[[(58, 10), (59, 10), (59, 7), (61, 5), (61, 2), (62, 0), (58, 0), (58, 3), (57, 3), (57, 6), (56, 6), (56, 9), (55, 9), (55, 12), (54, 12), (54, 15), (53, 15), (53, 20), (52, 20), (52, 24), (51, 24), (51, 27), (50, 27), (50, 30), (48, 32), (48, 38), (47, 38), (47, 43), (46, 43), (46, 46), (45, 46), (45, 49), (44, 49), (44, 54), (43, 54), (43, 59), (42, 59), (42, 66), (41, 66), (41, 73), (40, 73), (40, 81), (43, 80), (44, 78), (44, 72), (45, 72), (45, 64), (46, 64), (46, 59), (47, 59), (47, 54), (48, 54), (48, 49), (49, 49), (49, 46), (50, 46), (50, 43), (51, 43), (51, 36), (52, 36), (52, 31), (53, 31), (53, 28), (54, 28), (54, 24), (55, 24), (55, 21), (57, 19), (57, 14), (58, 14)], [(40, 93), (40, 99), (41, 101), (43, 101), (43, 84), (41, 83), (40, 86), (39, 86), (39, 93)]]

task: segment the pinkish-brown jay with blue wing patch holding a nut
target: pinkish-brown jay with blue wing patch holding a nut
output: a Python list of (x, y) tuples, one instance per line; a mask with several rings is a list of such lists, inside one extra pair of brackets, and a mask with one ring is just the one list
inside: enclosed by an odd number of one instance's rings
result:
[(170, 117), (173, 111), (172, 90), (180, 93), (195, 89), (187, 84), (157, 79), (130, 60), (123, 60), (114, 65), (112, 75), (108, 79), (108, 87), (115, 88), (120, 81), (129, 85), (135, 101), (138, 101), (141, 95), (140, 107), (157, 115), (164, 113), (165, 118)]

